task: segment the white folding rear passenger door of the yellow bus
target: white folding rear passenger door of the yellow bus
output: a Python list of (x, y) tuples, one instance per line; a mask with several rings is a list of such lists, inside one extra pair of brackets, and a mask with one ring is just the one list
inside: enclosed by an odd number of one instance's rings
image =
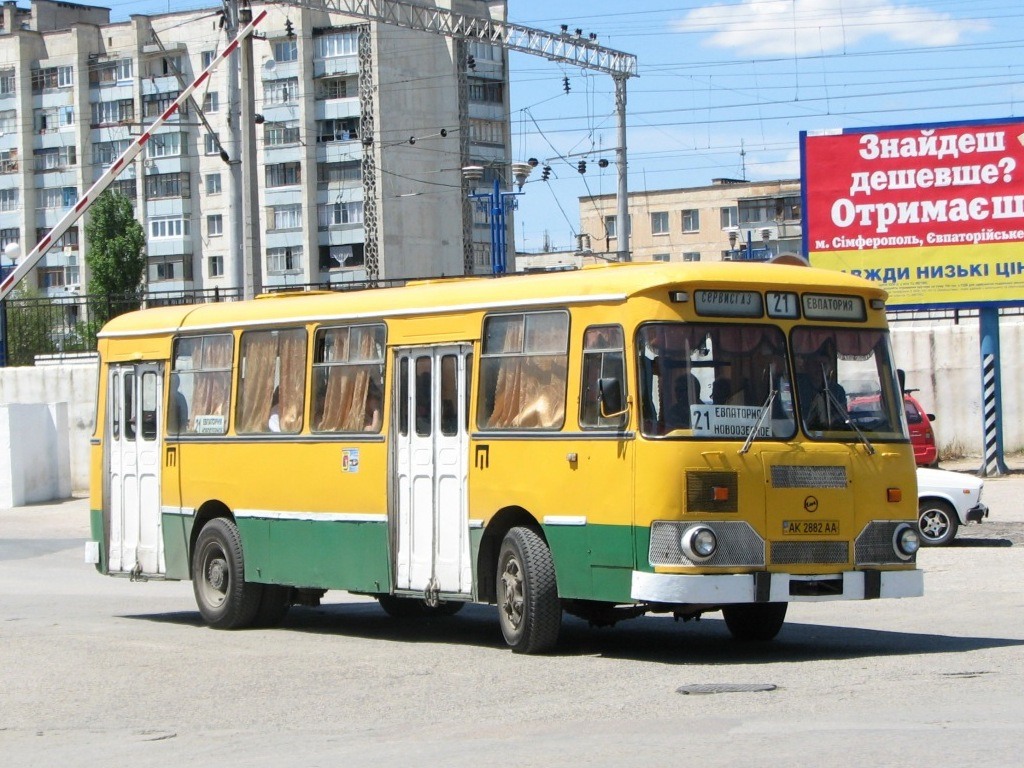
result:
[(112, 573), (164, 572), (160, 524), (163, 370), (157, 365), (111, 366), (106, 444), (110, 446)]

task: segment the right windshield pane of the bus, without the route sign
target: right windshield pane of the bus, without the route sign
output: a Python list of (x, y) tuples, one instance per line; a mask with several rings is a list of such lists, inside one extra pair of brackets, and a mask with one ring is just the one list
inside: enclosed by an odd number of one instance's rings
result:
[(889, 335), (878, 330), (793, 331), (797, 404), (804, 431), (823, 439), (903, 439)]

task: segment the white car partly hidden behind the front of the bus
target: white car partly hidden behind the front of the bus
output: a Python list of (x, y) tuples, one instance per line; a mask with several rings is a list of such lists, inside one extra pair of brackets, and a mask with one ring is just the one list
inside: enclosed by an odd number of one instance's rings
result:
[(918, 527), (926, 547), (949, 544), (956, 528), (988, 517), (981, 503), (985, 482), (964, 472), (918, 468)]

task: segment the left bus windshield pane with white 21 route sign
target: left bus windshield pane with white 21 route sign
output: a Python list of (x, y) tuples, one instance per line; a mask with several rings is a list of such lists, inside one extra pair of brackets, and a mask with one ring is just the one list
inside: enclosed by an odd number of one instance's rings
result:
[(644, 434), (738, 440), (752, 430), (758, 439), (796, 434), (780, 329), (648, 324), (637, 349)]

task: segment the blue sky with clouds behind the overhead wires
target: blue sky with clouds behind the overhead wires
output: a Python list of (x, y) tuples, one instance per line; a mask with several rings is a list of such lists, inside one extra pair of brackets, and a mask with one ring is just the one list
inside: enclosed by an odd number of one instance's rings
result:
[[(115, 20), (217, 5), (97, 4)], [(551, 32), (565, 24), (637, 56), (639, 77), (628, 85), (631, 190), (796, 177), (802, 130), (1024, 111), (1021, 0), (509, 0), (509, 17)], [(570, 248), (579, 198), (615, 191), (612, 80), (521, 54), (511, 57), (511, 80), (513, 160), (552, 168), (549, 181), (535, 171), (524, 187), (516, 246)]]

